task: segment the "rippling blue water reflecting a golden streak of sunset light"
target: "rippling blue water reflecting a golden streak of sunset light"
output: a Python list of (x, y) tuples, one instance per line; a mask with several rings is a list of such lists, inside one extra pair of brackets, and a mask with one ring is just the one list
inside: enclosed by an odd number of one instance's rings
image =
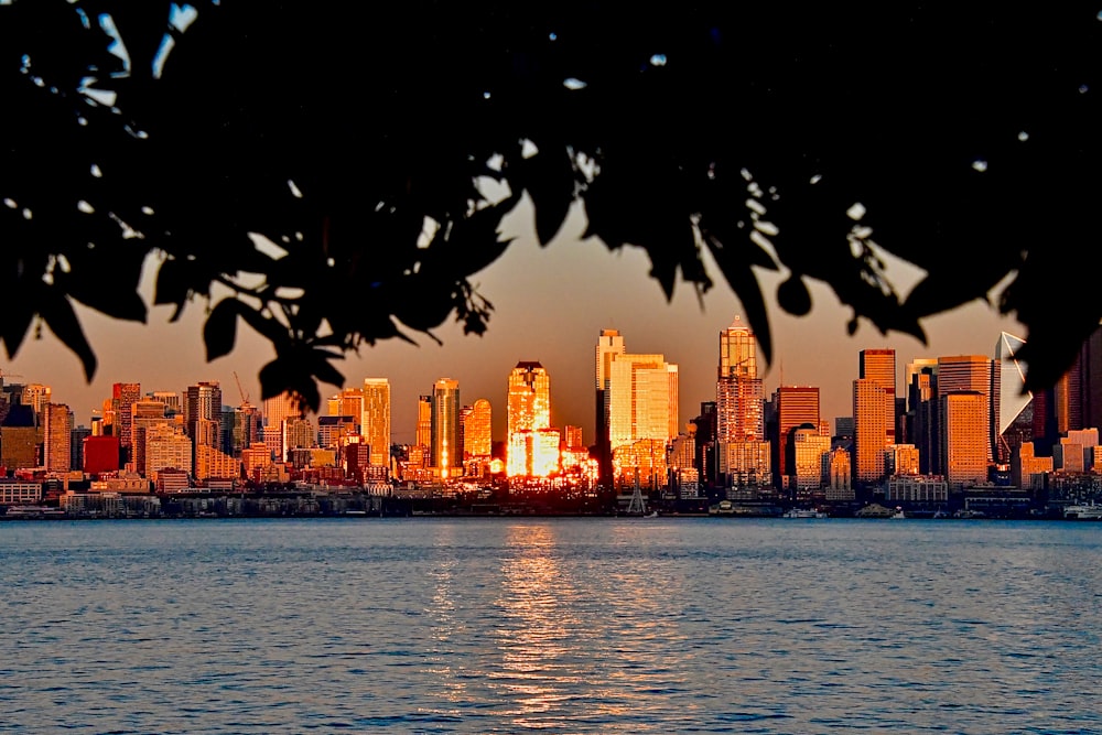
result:
[(1102, 523), (0, 523), (0, 731), (1099, 733)]

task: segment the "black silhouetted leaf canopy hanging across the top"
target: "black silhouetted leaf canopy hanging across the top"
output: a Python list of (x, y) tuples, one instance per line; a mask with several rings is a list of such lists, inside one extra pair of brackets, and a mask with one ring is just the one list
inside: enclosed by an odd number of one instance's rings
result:
[[(468, 279), (527, 194), (542, 244), (580, 199), (667, 295), (709, 250), (767, 358), (752, 267), (919, 338), (1013, 275), (1050, 385), (1102, 316), (1098, 8), (880, 6), (0, 4), (0, 341), (45, 324), (90, 378), (74, 302), (144, 321), (152, 253), (208, 359), (244, 323), (264, 397), (316, 408), (348, 350), (486, 328)], [(927, 272), (905, 300), (873, 244)]]

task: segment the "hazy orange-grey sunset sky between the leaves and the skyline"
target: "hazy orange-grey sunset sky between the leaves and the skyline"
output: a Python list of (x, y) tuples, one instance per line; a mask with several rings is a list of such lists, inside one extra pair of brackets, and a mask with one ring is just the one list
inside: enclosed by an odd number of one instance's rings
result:
[[(365, 346), (358, 356), (337, 365), (348, 386), (360, 385), (366, 377), (390, 379), (396, 443), (412, 442), (417, 398), (431, 392), (432, 383), (443, 377), (460, 381), (464, 404), (478, 398), (490, 401), (495, 439), (504, 439), (507, 378), (520, 360), (539, 360), (548, 369), (552, 422), (580, 424), (584, 441), (593, 443), (594, 346), (603, 328), (619, 329), (629, 353), (662, 353), (667, 361), (679, 366), (682, 425), (699, 413), (702, 401), (715, 400), (719, 333), (742, 314), (738, 300), (717, 269), (711, 269), (716, 285), (702, 302), (691, 287), (679, 284), (672, 302), (667, 303), (658, 283), (648, 277), (650, 264), (640, 249), (609, 252), (599, 240), (581, 240), (584, 221), (584, 215), (575, 209), (559, 237), (540, 248), (530, 209), (518, 207), (506, 219), (504, 231), (517, 239), (505, 256), (474, 279), (495, 306), (484, 336), (465, 336), (457, 325), (449, 323), (434, 332), (442, 346), (414, 335), (419, 347), (390, 341)], [(900, 288), (917, 278), (914, 269), (898, 261), (889, 260), (888, 269)], [(760, 273), (767, 294), (771, 296), (784, 274)], [(148, 302), (149, 289), (144, 292)], [(923, 322), (930, 339), (927, 346), (907, 335), (880, 335), (867, 322), (850, 337), (850, 310), (821, 284), (812, 284), (812, 296), (814, 305), (808, 317), (786, 315), (770, 304), (775, 359), (764, 376), (765, 388), (769, 394), (781, 380), (785, 385), (818, 386), (821, 413), (831, 421), (852, 413), (851, 381), (857, 377), (861, 349), (894, 347), (901, 376), (906, 363), (916, 357), (992, 356), (1001, 331), (1024, 336), (1015, 320), (975, 302)], [(45, 328), (41, 339), (28, 338), (14, 360), (0, 361), (0, 370), (9, 376), (8, 382), (51, 386), (54, 401), (67, 403), (76, 422), (84, 425), (117, 381), (140, 382), (148, 392), (183, 391), (201, 380), (217, 380), (225, 403), (236, 406), (240, 402), (236, 371), (244, 390), (258, 403), (257, 374), (272, 358), (272, 348), (241, 327), (234, 353), (206, 363), (204, 307), (203, 302), (195, 302), (175, 324), (169, 323), (170, 310), (154, 309), (147, 325), (115, 322), (84, 310), (82, 318), (99, 358), (90, 385), (79, 360)], [(322, 386), (323, 396), (336, 391), (334, 386)]]

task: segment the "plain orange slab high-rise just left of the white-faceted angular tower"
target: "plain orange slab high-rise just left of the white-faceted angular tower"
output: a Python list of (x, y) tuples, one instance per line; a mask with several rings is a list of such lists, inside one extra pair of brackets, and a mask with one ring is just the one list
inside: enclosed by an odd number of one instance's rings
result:
[(990, 400), (979, 390), (943, 393), (941, 417), (942, 474), (950, 488), (979, 485), (987, 479)]

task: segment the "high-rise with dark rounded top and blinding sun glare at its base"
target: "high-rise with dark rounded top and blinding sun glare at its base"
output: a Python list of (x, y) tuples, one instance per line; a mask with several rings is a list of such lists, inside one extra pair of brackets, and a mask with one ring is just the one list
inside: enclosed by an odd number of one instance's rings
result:
[(520, 361), (509, 372), (506, 409), (510, 477), (547, 477), (559, 469), (559, 434), (551, 430), (551, 376), (536, 361)]

